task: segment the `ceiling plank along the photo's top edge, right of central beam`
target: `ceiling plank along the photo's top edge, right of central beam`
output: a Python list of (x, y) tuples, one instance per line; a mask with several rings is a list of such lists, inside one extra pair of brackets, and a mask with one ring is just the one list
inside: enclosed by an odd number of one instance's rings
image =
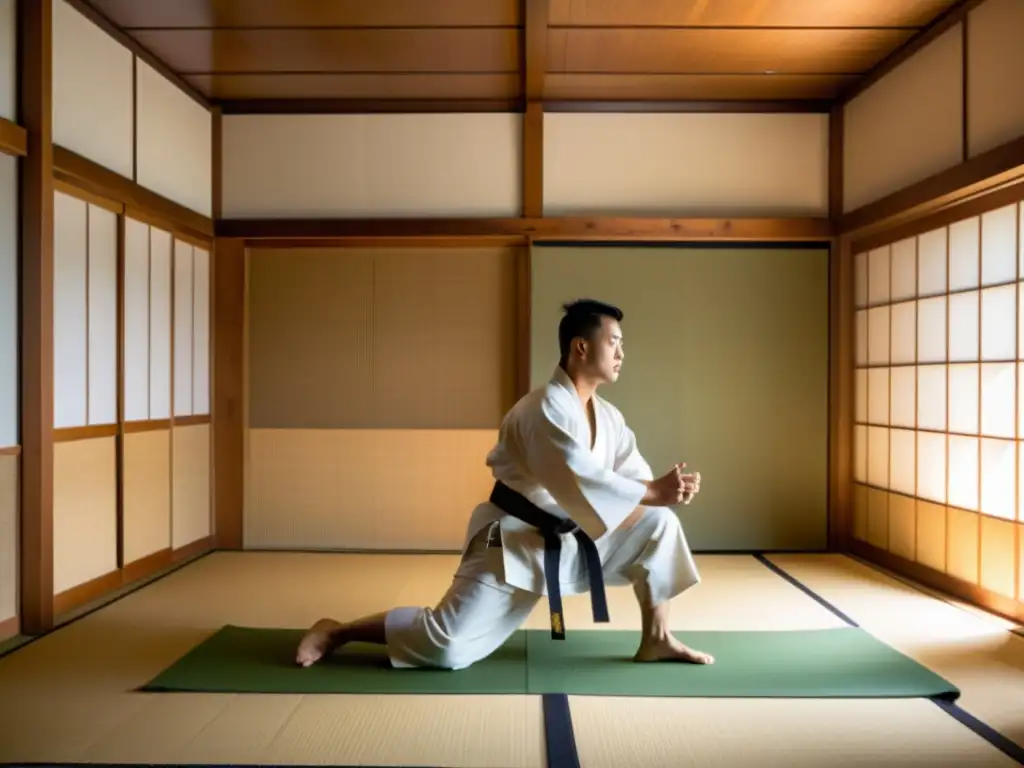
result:
[(551, 0), (573, 27), (925, 27), (955, 0)]

